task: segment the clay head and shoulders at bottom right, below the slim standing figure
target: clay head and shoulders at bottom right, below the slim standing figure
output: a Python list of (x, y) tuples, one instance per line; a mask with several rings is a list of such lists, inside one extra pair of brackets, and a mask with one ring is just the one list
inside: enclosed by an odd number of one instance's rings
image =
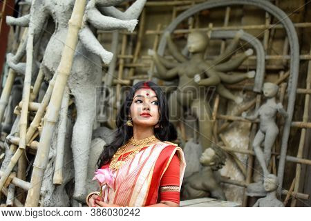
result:
[(267, 175), (263, 181), (263, 186), (265, 186), (267, 195), (265, 198), (257, 200), (253, 207), (284, 207), (283, 202), (276, 198), (276, 189), (279, 186), (278, 177), (274, 174)]

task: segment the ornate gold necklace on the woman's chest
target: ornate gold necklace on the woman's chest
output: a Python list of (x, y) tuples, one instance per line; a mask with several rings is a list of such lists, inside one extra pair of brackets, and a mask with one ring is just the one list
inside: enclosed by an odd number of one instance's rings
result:
[[(124, 144), (123, 146), (121, 146), (120, 148), (117, 149), (117, 152), (113, 155), (113, 158), (111, 160), (109, 168), (113, 171), (117, 171), (118, 169), (120, 169), (122, 164), (124, 164), (124, 161), (123, 161), (124, 159), (130, 158), (130, 156), (133, 157), (134, 155), (139, 153), (140, 150), (144, 146), (154, 142), (155, 140), (156, 140), (155, 135), (152, 135), (152, 136), (147, 137), (147, 138), (142, 139), (142, 140), (135, 140), (134, 137), (131, 137), (131, 139), (126, 144)], [(130, 153), (129, 155), (127, 155), (124, 158), (124, 153), (125, 153), (127, 147), (129, 146), (129, 144), (131, 144), (132, 146), (137, 146), (137, 148), (135, 148), (135, 150), (132, 153)], [(119, 159), (120, 155), (122, 155), (122, 159), (120, 161), (117, 161)]]

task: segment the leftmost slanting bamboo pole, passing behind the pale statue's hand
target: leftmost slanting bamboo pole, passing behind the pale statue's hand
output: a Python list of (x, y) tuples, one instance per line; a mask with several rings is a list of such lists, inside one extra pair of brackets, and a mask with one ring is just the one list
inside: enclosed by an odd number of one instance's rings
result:
[[(17, 49), (17, 53), (19, 53), (20, 50), (22, 50), (23, 42), (25, 41), (27, 37), (28, 28), (25, 28), (23, 32), (23, 37), (21, 37), (21, 42), (19, 44), (19, 48)], [(14, 84), (14, 80), (17, 73), (15, 73), (12, 68), (9, 69), (8, 72), (8, 78), (6, 79), (6, 84), (2, 90), (1, 98), (0, 98), (0, 122), (2, 122), (4, 111), (6, 110), (6, 106), (8, 106), (8, 100), (10, 98), (12, 86)]]

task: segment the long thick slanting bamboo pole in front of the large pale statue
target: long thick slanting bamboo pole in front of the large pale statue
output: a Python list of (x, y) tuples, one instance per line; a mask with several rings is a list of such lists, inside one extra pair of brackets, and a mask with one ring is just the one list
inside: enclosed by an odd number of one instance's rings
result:
[(59, 115), (59, 109), (62, 103), (62, 95), (66, 87), (68, 76), (70, 75), (71, 66), (73, 64), (73, 56), (78, 41), (78, 32), (82, 26), (82, 18), (86, 0), (76, 0), (73, 7), (73, 14), (68, 22), (68, 33), (66, 44), (62, 52), (62, 59), (57, 68), (57, 79), (55, 88), (53, 89), (48, 111), (46, 113), (46, 121), (40, 137), (39, 148), (34, 162), (30, 189), (26, 198), (25, 206), (37, 206), (40, 198), (40, 189), (46, 164), (48, 163), (48, 153), (50, 151), (50, 143), (53, 131)]

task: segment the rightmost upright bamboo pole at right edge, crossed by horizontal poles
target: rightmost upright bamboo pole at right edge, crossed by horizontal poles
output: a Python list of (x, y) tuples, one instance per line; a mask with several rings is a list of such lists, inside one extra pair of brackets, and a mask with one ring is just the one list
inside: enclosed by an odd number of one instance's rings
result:
[[(311, 50), (310, 50), (311, 54)], [(305, 88), (307, 90), (310, 90), (311, 88), (311, 61), (309, 61), (308, 64), (308, 75), (307, 75), (307, 81), (306, 81), (306, 86)], [(303, 109), (303, 122), (300, 124), (305, 124), (305, 125), (310, 125), (308, 128), (311, 128), (311, 123), (308, 123), (309, 119), (309, 106), (310, 106), (310, 94), (305, 95), (305, 106)], [(297, 157), (301, 158), (303, 157), (303, 147), (305, 146), (305, 134), (307, 133), (307, 130), (305, 128), (301, 129), (301, 135), (300, 135), (300, 142), (299, 142), (299, 147), (298, 147), (298, 152), (297, 152)], [(301, 177), (301, 164), (296, 164), (296, 177), (295, 177), (295, 186), (294, 186), (294, 191), (297, 192), (299, 191), (299, 185), (300, 185), (300, 177)], [(292, 200), (292, 203), (290, 204), (291, 207), (296, 206), (296, 199)]]

